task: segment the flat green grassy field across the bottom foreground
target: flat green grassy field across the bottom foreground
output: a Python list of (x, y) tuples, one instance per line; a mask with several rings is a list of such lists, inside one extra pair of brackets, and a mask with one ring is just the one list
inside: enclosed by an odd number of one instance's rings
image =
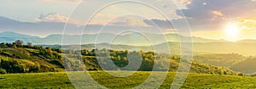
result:
[[(81, 73), (83, 72), (75, 72)], [(98, 71), (91, 71), (90, 75), (99, 84), (108, 88), (132, 88), (145, 81), (150, 72), (137, 72), (125, 78)], [(160, 88), (170, 88), (174, 75), (175, 73), (169, 73)], [(74, 88), (65, 72), (0, 75), (0, 82), (0, 88)], [(256, 88), (256, 77), (189, 74), (182, 88)]]

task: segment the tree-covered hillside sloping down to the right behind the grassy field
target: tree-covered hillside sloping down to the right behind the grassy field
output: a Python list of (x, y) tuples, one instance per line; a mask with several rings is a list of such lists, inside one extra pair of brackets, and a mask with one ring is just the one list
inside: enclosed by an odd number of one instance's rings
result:
[[(63, 50), (64, 54), (61, 56), (61, 49), (50, 47), (38, 47), (28, 45), (16, 45), (9, 43), (2, 43), (0, 45), (0, 69), (6, 70), (8, 73), (30, 73), (30, 72), (48, 72), (48, 71), (62, 71), (64, 66), (66, 70), (84, 70), (84, 64), (86, 70), (102, 70), (96, 59), (96, 54), (102, 55), (100, 58), (104, 64), (105, 62), (113, 61), (119, 67), (125, 67), (128, 64), (127, 55), (134, 54), (131, 59), (134, 61), (142, 61), (141, 64), (135, 63), (134, 66), (126, 68), (125, 70), (135, 70), (134, 67), (141, 65), (138, 70), (151, 71), (153, 69), (154, 61), (160, 62), (159, 58), (164, 58), (166, 62), (170, 62), (171, 66), (169, 71), (177, 71), (179, 66), (179, 56), (153, 53), (153, 52), (129, 52), (129, 51), (114, 51), (114, 50), (82, 50), (82, 58), (77, 58), (79, 51)], [(96, 53), (97, 52), (97, 53)], [(73, 55), (65, 55), (65, 53), (75, 53)], [(110, 54), (110, 57), (104, 55)], [(143, 58), (138, 58), (143, 56)], [(154, 58), (154, 55), (158, 55), (158, 58)], [(72, 58), (70, 58), (72, 57)], [(109, 60), (109, 59), (111, 60)], [(64, 64), (63, 64), (63, 61)], [(105, 63), (106, 64), (106, 63)], [(166, 64), (160, 64), (155, 70), (167, 70)], [(182, 65), (187, 66), (187, 65)], [(105, 70), (113, 70), (115, 67), (108, 67)], [(205, 74), (219, 74), (219, 75), (236, 75), (236, 72), (225, 69), (223, 67), (212, 66), (210, 64), (201, 64), (194, 61), (191, 66), (191, 72), (205, 73)]]

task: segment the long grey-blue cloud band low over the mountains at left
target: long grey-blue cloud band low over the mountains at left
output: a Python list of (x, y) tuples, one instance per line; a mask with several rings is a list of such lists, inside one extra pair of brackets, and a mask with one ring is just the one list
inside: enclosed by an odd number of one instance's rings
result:
[[(133, 22), (133, 21), (128, 21)], [(143, 22), (143, 21), (142, 21)], [(108, 25), (75, 25), (73, 23), (67, 23), (65, 33), (67, 34), (81, 34), (84, 33), (97, 33), (102, 29), (102, 33), (119, 33), (119, 31), (125, 30), (140, 30), (146, 32), (155, 32), (154, 27), (146, 27), (146, 26), (130, 26), (130, 24), (126, 25), (114, 25), (122, 23), (118, 20), (113, 20), (113, 22)], [(126, 22), (125, 22), (126, 23)], [(66, 23), (64, 22), (52, 22), (52, 21), (39, 21), (39, 22), (22, 22), (15, 19), (8, 19), (0, 16), (0, 32), (3, 31), (16, 31), (20, 33), (26, 33), (33, 36), (48, 36), (50, 34), (60, 34), (63, 33), (64, 26)], [(103, 27), (103, 28), (102, 28)]]

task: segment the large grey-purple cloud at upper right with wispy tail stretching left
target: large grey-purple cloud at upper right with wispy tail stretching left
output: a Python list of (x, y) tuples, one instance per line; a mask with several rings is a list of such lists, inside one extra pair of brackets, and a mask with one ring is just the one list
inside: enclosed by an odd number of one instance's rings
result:
[[(241, 22), (249, 25), (247, 28), (254, 28), (256, 3), (252, 0), (186, 0), (186, 8), (177, 9), (176, 14), (183, 16), (180, 19), (144, 19), (144, 23), (173, 29), (170, 22), (175, 23), (179, 31), (187, 31), (184, 26), (184, 19), (187, 19), (192, 31), (214, 31), (223, 30), (230, 22)], [(180, 1), (181, 2), (181, 1)], [(180, 13), (182, 12), (182, 13)], [(244, 19), (251, 19), (242, 21)]]

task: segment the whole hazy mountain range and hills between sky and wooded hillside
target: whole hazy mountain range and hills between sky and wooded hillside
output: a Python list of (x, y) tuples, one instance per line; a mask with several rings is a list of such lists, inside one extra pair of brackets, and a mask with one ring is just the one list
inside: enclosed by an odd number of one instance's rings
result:
[[(91, 48), (94, 44), (99, 44), (100, 47), (108, 47), (111, 42), (111, 47), (114, 49), (127, 49), (136, 48), (137, 50), (153, 50), (152, 45), (160, 48), (162, 53), (167, 53), (171, 50), (172, 54), (180, 54), (180, 42), (179, 38), (189, 39), (188, 36), (179, 36), (177, 34), (166, 34), (166, 40), (160, 39), (160, 34), (147, 33), (148, 38), (152, 41), (149, 42), (145, 36), (141, 36), (137, 33), (129, 33), (124, 35), (115, 36), (109, 33), (102, 34), (84, 34), (79, 35), (64, 35), (63, 45), (71, 47), (79, 47), (80, 41), (82, 47)], [(179, 37), (178, 37), (179, 36)], [(97, 40), (96, 40), (97, 38)], [(79, 40), (77, 40), (79, 39)], [(22, 40), (24, 43), (32, 42), (34, 45), (56, 45), (60, 47), (62, 41), (62, 35), (54, 34), (46, 36), (44, 38), (38, 36), (28, 36), (18, 34), (15, 32), (3, 32), (0, 33), (0, 42), (15, 42), (15, 40)], [(105, 44), (102, 44), (105, 43)], [(150, 45), (152, 43), (152, 45)], [(169, 49), (164, 45), (168, 43)], [(183, 44), (186, 44), (184, 42)], [(76, 46), (77, 45), (77, 46)], [(244, 40), (241, 42), (227, 42), (224, 40), (212, 40), (204, 39), (201, 37), (193, 37), (193, 53), (195, 54), (211, 54), (211, 53), (240, 53), (242, 55), (256, 55), (255, 47), (256, 41)]]

